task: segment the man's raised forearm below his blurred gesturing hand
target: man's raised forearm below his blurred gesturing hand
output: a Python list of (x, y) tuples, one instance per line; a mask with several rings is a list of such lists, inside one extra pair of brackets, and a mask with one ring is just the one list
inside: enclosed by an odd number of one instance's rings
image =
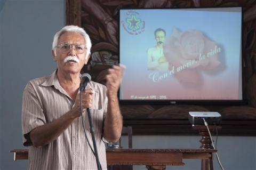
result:
[(121, 136), (123, 120), (119, 109), (117, 95), (108, 97), (108, 110), (103, 136), (110, 142), (116, 142)]

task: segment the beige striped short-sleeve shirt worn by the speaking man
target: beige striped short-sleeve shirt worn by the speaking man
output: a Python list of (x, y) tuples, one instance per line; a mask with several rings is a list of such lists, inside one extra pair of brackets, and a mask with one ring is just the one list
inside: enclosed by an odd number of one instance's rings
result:
[[(102, 169), (107, 169), (105, 143), (102, 138), (103, 114), (107, 112), (106, 86), (90, 82), (86, 88), (95, 91), (90, 109), (95, 140)], [(28, 169), (97, 169), (95, 157), (86, 141), (82, 117), (74, 120), (56, 140), (42, 147), (34, 147), (29, 133), (66, 114), (74, 106), (74, 100), (60, 86), (57, 71), (49, 77), (28, 82), (23, 92), (22, 134), (23, 145), (29, 146)], [(85, 131), (92, 144), (87, 113), (83, 114)]]

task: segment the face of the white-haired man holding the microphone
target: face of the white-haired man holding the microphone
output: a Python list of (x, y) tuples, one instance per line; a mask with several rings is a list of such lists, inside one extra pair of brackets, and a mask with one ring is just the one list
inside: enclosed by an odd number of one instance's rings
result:
[[(74, 33), (74, 32), (67, 32), (60, 36), (58, 44), (79, 44), (85, 46), (85, 40), (84, 37), (81, 34)], [(66, 74), (76, 74), (81, 71), (84, 64), (87, 63), (87, 61), (90, 58), (90, 53), (84, 49), (84, 53), (79, 54), (75, 50), (75, 46), (72, 45), (70, 50), (67, 52), (61, 51), (60, 47), (57, 47), (56, 49), (56, 55), (53, 53), (53, 59), (57, 62), (58, 70), (61, 72), (64, 72)], [(67, 56), (73, 56), (75, 59), (78, 59), (75, 62), (73, 60), (67, 61)], [(66, 61), (65, 61), (66, 59)]]

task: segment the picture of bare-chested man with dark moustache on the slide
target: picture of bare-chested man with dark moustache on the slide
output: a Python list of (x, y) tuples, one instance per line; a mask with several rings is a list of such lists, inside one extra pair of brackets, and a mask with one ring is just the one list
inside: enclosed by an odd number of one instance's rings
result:
[(147, 50), (148, 70), (166, 71), (169, 69), (169, 63), (166, 61), (163, 53), (165, 36), (164, 29), (158, 28), (155, 30), (156, 45)]

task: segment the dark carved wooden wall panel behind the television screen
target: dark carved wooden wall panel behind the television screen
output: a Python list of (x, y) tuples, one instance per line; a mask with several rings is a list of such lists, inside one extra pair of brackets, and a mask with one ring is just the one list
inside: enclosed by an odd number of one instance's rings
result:
[[(182, 8), (243, 6), (243, 92), (247, 106), (194, 106), (122, 104), (124, 124), (133, 125), (136, 134), (190, 134), (188, 111), (219, 111), (223, 134), (256, 135), (256, 2), (250, 0), (67, 0), (67, 25), (82, 26), (92, 40), (90, 63), (83, 71), (90, 72), (95, 82), (104, 84), (106, 69), (119, 60), (118, 11), (120, 8)], [(81, 8), (81, 12), (79, 12)], [(81, 21), (81, 22), (80, 22)], [(139, 122), (138, 122), (139, 120)], [(167, 121), (167, 122), (166, 122)], [(168, 122), (169, 121), (169, 122)], [(175, 122), (173, 122), (175, 121)], [(249, 121), (247, 124), (244, 121)], [(252, 124), (254, 121), (255, 126)], [(145, 125), (145, 126), (144, 126)], [(239, 125), (239, 126), (238, 126)], [(147, 129), (150, 127), (149, 129)], [(184, 127), (184, 129), (182, 129)], [(225, 129), (225, 127), (227, 127)], [(241, 127), (244, 131), (241, 131)], [(187, 129), (186, 129), (187, 128)], [(239, 128), (239, 129), (238, 129)], [(246, 133), (247, 132), (247, 133)], [(169, 133), (167, 131), (166, 133)]]

